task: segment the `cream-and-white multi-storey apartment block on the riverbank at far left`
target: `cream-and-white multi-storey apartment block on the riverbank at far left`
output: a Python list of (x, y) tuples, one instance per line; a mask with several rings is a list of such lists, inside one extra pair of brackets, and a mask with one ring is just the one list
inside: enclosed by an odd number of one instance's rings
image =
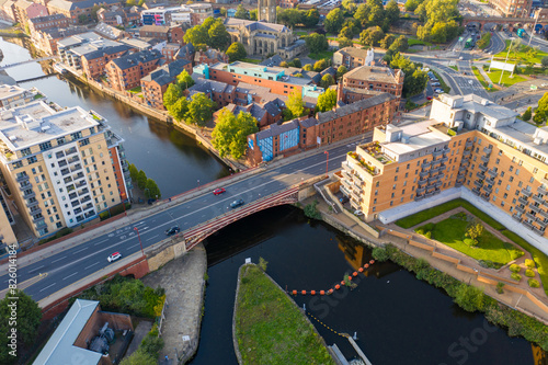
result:
[(54, 107), (35, 101), (0, 111), (0, 169), (37, 237), (98, 217), (130, 189), (123, 140), (105, 119)]

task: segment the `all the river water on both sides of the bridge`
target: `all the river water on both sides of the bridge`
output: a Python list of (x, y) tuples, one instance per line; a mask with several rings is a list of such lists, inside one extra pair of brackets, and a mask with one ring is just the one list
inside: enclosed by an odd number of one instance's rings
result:
[[(3, 64), (30, 58), (28, 52), (0, 39)], [(43, 75), (39, 65), (8, 69), (16, 80)], [(129, 161), (159, 184), (164, 196), (226, 175), (226, 168), (194, 139), (147, 118), (85, 85), (55, 76), (23, 83), (37, 87), (62, 106), (93, 109), (125, 138)], [(269, 261), (267, 273), (289, 290), (328, 289), (370, 260), (370, 252), (331, 227), (309, 221), (299, 209), (276, 207), (255, 214), (206, 241), (209, 283), (199, 347), (192, 364), (237, 364), (232, 347), (232, 308), (238, 267), (246, 258)], [(329, 297), (297, 297), (296, 303), (335, 332), (357, 335), (375, 365), (534, 364), (532, 345), (468, 313), (412, 274), (390, 263), (375, 264), (352, 292)], [(328, 344), (346, 357), (356, 354), (346, 339), (312, 319)]]

